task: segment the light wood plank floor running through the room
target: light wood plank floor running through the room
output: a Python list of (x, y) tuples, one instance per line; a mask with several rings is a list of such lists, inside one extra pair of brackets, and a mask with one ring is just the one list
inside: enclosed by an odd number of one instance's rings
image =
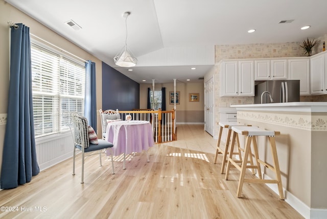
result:
[(116, 157), (115, 175), (105, 156), (102, 167), (98, 156), (88, 157), (84, 184), (80, 156), (75, 176), (68, 159), (26, 185), (1, 190), (0, 206), (18, 211), (0, 211), (0, 218), (303, 218), (266, 185), (246, 183), (237, 198), (239, 173), (224, 179), (221, 156), (213, 164), (215, 147), (203, 125), (178, 126), (178, 140), (149, 149), (149, 163), (138, 153), (124, 170)]

